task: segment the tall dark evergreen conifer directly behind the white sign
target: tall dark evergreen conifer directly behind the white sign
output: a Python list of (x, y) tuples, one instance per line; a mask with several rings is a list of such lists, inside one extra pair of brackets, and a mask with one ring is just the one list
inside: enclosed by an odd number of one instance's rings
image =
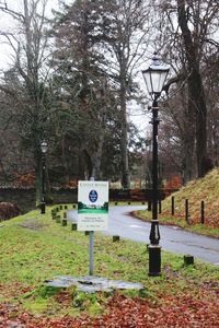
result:
[(74, 1), (57, 15), (54, 27), (58, 98), (61, 95), (62, 104), (68, 102), (69, 115), (76, 114), (72, 132), (81, 178), (101, 175), (105, 130), (114, 108), (110, 106), (113, 95), (104, 70), (106, 59), (99, 51), (102, 8), (103, 1)]

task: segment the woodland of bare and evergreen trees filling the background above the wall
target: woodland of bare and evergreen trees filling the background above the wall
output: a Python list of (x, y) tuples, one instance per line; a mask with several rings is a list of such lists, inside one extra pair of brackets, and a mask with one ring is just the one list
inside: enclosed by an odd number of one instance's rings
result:
[(216, 0), (1, 1), (11, 65), (0, 80), (0, 184), (36, 187), (47, 140), (47, 188), (78, 179), (150, 187), (151, 132), (142, 82), (154, 51), (171, 66), (160, 101), (160, 180), (203, 177), (219, 161)]

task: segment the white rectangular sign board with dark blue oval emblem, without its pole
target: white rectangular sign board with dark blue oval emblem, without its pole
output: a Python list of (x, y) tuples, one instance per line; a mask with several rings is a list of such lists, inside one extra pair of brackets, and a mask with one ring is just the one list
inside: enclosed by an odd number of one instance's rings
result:
[(78, 230), (108, 229), (108, 181), (79, 181)]

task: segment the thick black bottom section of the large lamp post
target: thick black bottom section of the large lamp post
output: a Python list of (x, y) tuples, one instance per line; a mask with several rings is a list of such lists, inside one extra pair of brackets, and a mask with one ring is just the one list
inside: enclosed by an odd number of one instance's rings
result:
[(149, 245), (149, 273), (150, 277), (161, 276), (161, 246)]

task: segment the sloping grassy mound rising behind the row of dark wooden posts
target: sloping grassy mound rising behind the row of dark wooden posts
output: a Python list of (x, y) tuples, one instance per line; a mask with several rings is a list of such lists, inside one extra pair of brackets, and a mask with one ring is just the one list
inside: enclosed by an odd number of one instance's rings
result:
[(200, 223), (200, 203), (205, 202), (205, 224), (219, 227), (219, 168), (204, 178), (195, 179), (163, 201), (162, 215), (171, 215), (174, 197), (174, 216), (185, 218), (185, 200), (188, 199), (191, 223)]

